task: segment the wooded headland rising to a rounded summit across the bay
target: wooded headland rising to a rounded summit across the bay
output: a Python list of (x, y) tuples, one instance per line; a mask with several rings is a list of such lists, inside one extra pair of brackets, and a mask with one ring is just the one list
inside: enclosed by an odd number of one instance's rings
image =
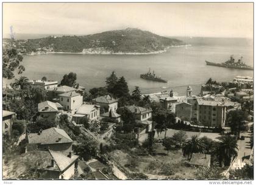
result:
[(71, 52), (85, 54), (150, 54), (168, 47), (185, 45), (183, 41), (154, 33), (127, 28), (85, 36), (63, 36), (22, 41), (21, 53)]

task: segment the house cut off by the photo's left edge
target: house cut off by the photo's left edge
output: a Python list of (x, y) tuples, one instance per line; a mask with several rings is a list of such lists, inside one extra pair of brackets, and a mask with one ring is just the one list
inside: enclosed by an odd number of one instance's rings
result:
[(2, 134), (11, 136), (14, 116), (15, 113), (11, 111), (2, 111)]

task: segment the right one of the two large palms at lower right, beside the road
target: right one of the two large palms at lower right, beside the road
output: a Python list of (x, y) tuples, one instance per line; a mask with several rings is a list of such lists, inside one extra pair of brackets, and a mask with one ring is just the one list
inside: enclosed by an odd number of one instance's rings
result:
[(223, 162), (224, 166), (229, 166), (231, 158), (237, 155), (238, 145), (236, 144), (236, 139), (232, 136), (224, 136), (219, 140), (216, 148), (219, 166), (222, 167)]

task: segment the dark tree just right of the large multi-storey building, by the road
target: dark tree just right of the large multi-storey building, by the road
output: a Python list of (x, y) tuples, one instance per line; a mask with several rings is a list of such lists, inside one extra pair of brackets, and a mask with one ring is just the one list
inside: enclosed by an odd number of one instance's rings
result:
[(233, 110), (227, 114), (230, 129), (240, 137), (240, 131), (246, 130), (243, 120), (245, 119), (242, 110)]

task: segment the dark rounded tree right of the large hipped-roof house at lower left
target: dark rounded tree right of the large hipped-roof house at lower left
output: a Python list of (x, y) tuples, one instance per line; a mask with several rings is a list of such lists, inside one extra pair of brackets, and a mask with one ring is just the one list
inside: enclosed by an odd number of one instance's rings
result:
[(92, 156), (96, 156), (98, 153), (98, 144), (92, 138), (88, 136), (82, 136), (78, 145), (74, 145), (74, 152), (88, 161)]

